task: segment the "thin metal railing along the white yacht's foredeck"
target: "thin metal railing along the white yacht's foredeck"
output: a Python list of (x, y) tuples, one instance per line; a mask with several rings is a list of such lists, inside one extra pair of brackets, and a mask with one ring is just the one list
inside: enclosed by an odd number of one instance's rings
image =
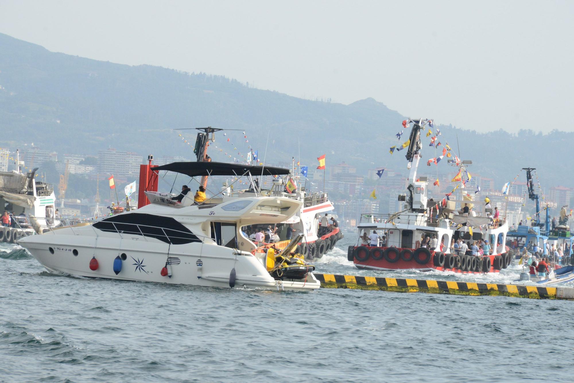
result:
[[(141, 235), (146, 242), (148, 241), (148, 237), (150, 238), (164, 238), (168, 240), (168, 243), (172, 243), (173, 239), (184, 239), (184, 240), (189, 240), (191, 238), (190, 235), (193, 235), (195, 237), (200, 237), (203, 238), (203, 240), (201, 240), (200, 242), (203, 243), (204, 239), (210, 238), (208, 236), (205, 235), (201, 235), (201, 234), (197, 234), (197, 233), (192, 233), (192, 232), (185, 232), (185, 231), (181, 231), (181, 230), (177, 230), (177, 229), (167, 229), (169, 233), (166, 232), (165, 228), (162, 228), (160, 226), (156, 226), (156, 225), (142, 225), (142, 224), (134, 224), (134, 223), (124, 223), (124, 222), (111, 222), (111, 221), (106, 221), (106, 220), (92, 220), (92, 219), (68, 219), (68, 226), (64, 226), (64, 227), (52, 227), (52, 225), (50, 225), (48, 223), (48, 228), (49, 228), (49, 233), (52, 233), (54, 235), (57, 234), (57, 231), (63, 228), (69, 228), (71, 229), (72, 233), (74, 235), (79, 235), (80, 233), (77, 233), (77, 229), (79, 229), (80, 227), (86, 227), (86, 226), (90, 226), (92, 228), (92, 230), (94, 231), (96, 237), (100, 236), (100, 233), (98, 233), (98, 231), (96, 230), (96, 228), (94, 227), (95, 223), (107, 223), (107, 224), (111, 224), (113, 226), (113, 230), (111, 230), (110, 228), (105, 228), (105, 229), (99, 229), (101, 231), (104, 232), (116, 232), (118, 233), (119, 237), (121, 239), (123, 239), (123, 235), (125, 234), (135, 234), (135, 235)], [(85, 225), (87, 224), (87, 225)], [(130, 228), (133, 228), (133, 230), (121, 230), (118, 229), (118, 226), (123, 227), (123, 225), (130, 225)], [(142, 230), (142, 228), (144, 228), (144, 230)], [(151, 228), (151, 229), (161, 229), (161, 233), (162, 235), (158, 235), (156, 233), (149, 233), (146, 229)], [(144, 235), (144, 232), (148, 232), (148, 235)], [(177, 236), (177, 235), (172, 235), (172, 233), (175, 232), (177, 233), (181, 233), (183, 236)], [(46, 232), (48, 233), (48, 232)], [(46, 234), (44, 233), (44, 234)]]

